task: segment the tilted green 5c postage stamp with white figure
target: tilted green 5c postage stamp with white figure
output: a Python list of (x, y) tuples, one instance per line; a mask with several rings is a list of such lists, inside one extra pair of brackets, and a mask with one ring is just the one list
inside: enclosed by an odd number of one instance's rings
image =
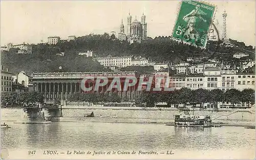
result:
[(173, 37), (205, 47), (214, 11), (215, 6), (196, 1), (182, 1)]

